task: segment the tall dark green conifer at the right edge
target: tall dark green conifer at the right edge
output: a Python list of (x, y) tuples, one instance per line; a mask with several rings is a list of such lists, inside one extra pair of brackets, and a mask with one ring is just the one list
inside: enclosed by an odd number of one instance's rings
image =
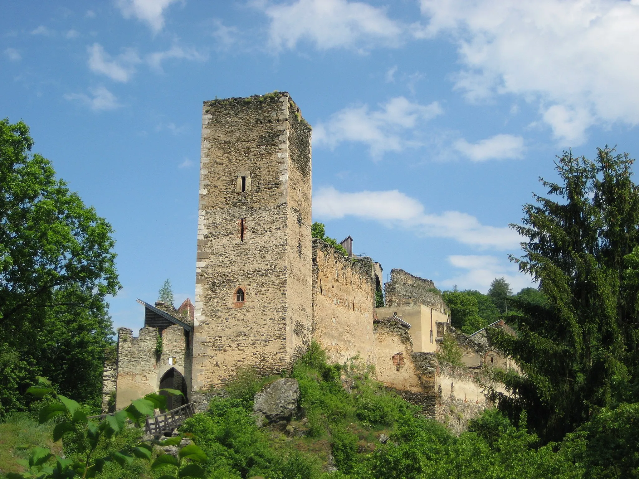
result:
[(518, 336), (490, 331), (522, 374), (495, 372), (507, 391), (491, 397), (511, 418), (528, 413), (542, 439), (560, 439), (601, 407), (637, 400), (639, 388), (639, 191), (633, 160), (614, 149), (594, 161), (570, 151), (556, 162), (560, 181), (524, 206), (528, 238), (512, 258), (539, 282), (544, 303), (513, 298)]

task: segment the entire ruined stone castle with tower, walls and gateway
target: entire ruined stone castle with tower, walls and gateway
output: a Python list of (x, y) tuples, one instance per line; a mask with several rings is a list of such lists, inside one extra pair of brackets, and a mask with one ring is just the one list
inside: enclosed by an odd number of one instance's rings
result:
[[(485, 331), (455, 331), (435, 284), (403, 270), (391, 271), (376, 307), (381, 265), (351, 256), (350, 237), (348, 256), (311, 238), (311, 166), (311, 126), (288, 93), (204, 102), (194, 308), (141, 301), (139, 335), (119, 329), (117, 361), (105, 367), (116, 409), (161, 387), (191, 400), (244, 367), (280, 374), (311, 340), (334, 362), (358, 355), (452, 429), (489, 406), (482, 367), (509, 364)], [(437, 360), (446, 333), (463, 367)]]

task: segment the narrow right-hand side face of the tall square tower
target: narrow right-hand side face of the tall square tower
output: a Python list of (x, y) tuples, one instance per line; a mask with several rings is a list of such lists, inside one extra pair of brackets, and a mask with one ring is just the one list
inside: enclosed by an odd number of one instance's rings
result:
[(287, 147), (282, 155), (289, 160), (286, 344), (291, 362), (304, 354), (312, 338), (311, 126), (291, 98), (282, 100), (282, 119), (286, 121), (279, 128), (286, 138), (280, 139)]

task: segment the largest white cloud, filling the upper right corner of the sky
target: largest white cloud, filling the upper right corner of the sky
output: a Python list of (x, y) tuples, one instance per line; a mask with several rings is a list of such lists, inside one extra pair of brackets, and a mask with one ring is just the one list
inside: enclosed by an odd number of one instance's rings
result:
[(422, 36), (451, 34), (468, 98), (537, 102), (562, 144), (595, 124), (639, 123), (639, 1), (421, 0)]

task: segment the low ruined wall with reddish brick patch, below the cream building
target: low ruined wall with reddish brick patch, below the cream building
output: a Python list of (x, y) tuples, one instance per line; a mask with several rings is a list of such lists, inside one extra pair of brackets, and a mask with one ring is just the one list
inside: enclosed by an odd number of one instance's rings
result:
[(434, 353), (414, 353), (406, 327), (394, 319), (374, 324), (375, 371), (378, 381), (395, 390), (403, 399), (424, 407), (430, 418), (436, 416), (436, 367)]

